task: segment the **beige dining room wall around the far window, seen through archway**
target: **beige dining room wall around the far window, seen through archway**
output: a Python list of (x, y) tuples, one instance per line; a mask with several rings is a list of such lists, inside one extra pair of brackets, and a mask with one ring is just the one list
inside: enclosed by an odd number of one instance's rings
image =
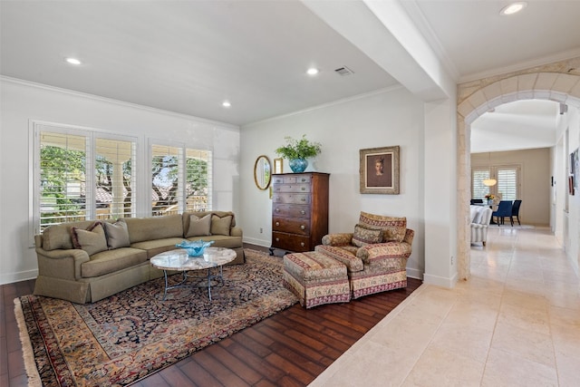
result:
[(513, 165), (521, 166), (519, 198), (522, 224), (548, 226), (550, 224), (550, 179), (552, 172), (550, 149), (509, 150), (491, 153), (472, 153), (471, 168)]

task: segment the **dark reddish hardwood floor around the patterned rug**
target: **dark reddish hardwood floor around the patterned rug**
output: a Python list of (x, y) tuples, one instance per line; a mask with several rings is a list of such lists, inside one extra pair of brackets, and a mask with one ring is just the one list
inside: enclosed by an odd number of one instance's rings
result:
[[(267, 252), (266, 247), (245, 245)], [(133, 386), (304, 386), (420, 286), (305, 310), (296, 304)], [(0, 386), (26, 386), (14, 298), (34, 280), (0, 286)]]

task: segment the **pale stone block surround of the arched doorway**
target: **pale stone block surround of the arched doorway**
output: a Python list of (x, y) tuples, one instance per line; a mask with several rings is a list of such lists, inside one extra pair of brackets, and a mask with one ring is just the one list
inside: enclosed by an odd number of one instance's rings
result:
[(458, 275), (470, 276), (469, 203), (471, 123), (507, 102), (550, 100), (580, 107), (580, 58), (459, 84), (458, 129)]

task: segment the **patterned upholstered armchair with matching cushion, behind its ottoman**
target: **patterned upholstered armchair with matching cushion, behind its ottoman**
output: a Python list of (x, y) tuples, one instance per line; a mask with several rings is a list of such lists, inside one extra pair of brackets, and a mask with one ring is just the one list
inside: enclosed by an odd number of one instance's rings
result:
[(347, 267), (352, 298), (407, 286), (415, 232), (407, 218), (361, 212), (352, 233), (329, 234), (315, 250)]

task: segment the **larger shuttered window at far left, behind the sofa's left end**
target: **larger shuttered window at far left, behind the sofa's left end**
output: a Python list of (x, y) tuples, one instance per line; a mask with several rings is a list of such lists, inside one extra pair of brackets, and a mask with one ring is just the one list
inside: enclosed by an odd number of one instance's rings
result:
[(34, 122), (34, 234), (63, 222), (135, 214), (136, 140)]

